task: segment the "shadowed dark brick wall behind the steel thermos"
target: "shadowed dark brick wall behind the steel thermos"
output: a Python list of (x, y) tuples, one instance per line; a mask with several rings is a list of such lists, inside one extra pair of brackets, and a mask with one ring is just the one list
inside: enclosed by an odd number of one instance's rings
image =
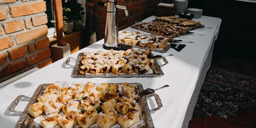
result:
[[(96, 0), (97, 2), (101, 0)], [(118, 28), (122, 30), (124, 28), (133, 25), (135, 22), (139, 22), (151, 15), (155, 15), (155, 6), (160, 0), (116, 0), (120, 6), (126, 6), (129, 12), (129, 17), (126, 17), (124, 10), (118, 9)], [(105, 23), (106, 23), (106, 7), (96, 7), (96, 33), (97, 40), (104, 38)]]

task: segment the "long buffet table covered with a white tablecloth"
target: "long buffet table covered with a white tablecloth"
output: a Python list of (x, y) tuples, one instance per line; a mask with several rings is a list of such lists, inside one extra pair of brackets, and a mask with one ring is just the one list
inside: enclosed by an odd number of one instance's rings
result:
[[(155, 19), (148, 17), (145, 22)], [(1, 127), (14, 127), (19, 119), (19, 115), (10, 113), (7, 109), (10, 103), (18, 95), (32, 96), (38, 85), (43, 83), (61, 82), (93, 82), (93, 83), (141, 83), (143, 88), (158, 88), (163, 85), (170, 87), (159, 90), (156, 93), (160, 96), (163, 108), (151, 113), (155, 127), (188, 127), (192, 117), (195, 103), (197, 102), (198, 93), (203, 85), (205, 74), (211, 64), (211, 56), (213, 53), (214, 42), (218, 36), (221, 19), (215, 17), (202, 16), (200, 20), (206, 27), (193, 30), (192, 32), (202, 35), (186, 35), (179, 38), (186, 41), (194, 41), (186, 43), (186, 47), (181, 52), (169, 49), (166, 53), (153, 54), (174, 54), (166, 59), (169, 64), (161, 67), (164, 72), (162, 77), (114, 77), (114, 78), (73, 78), (71, 77), (72, 67), (67, 66), (63, 58), (53, 64), (37, 70), (20, 80), (17, 80), (6, 87), (0, 88), (0, 124)], [(126, 28), (126, 30), (139, 31), (134, 28)], [(103, 49), (103, 40), (93, 45), (83, 48), (77, 53), (71, 54), (69, 57), (77, 58), (77, 55), (85, 51), (98, 51)], [(185, 44), (185, 43), (184, 43)], [(71, 62), (72, 63), (72, 62)], [(0, 83), (1, 84), (1, 83)], [(20, 101), (17, 110), (22, 111), (27, 105), (27, 101)], [(150, 108), (155, 108), (155, 103), (148, 100)]]

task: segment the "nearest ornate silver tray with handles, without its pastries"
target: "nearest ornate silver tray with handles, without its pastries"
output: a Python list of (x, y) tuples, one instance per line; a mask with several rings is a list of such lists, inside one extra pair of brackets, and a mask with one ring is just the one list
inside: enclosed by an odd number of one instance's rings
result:
[[(113, 83), (110, 83), (110, 84), (113, 84)], [(124, 84), (124, 83), (117, 83), (117, 84), (121, 85), (121, 84)], [(41, 126), (38, 126), (38, 124), (35, 124), (34, 118), (32, 116), (30, 116), (30, 114), (28, 114), (28, 108), (29, 108), (30, 105), (32, 105), (33, 103), (36, 103), (38, 101), (37, 98), (42, 95), (43, 90), (45, 90), (45, 88), (48, 85), (50, 85), (50, 84), (45, 83), (45, 84), (42, 84), (42, 85), (38, 86), (38, 88), (36, 89), (35, 93), (33, 94), (33, 96), (31, 98), (28, 97), (28, 96), (25, 96), (25, 95), (19, 95), (19, 96), (17, 96), (17, 98), (14, 101), (12, 101), (11, 105), (9, 106), (9, 111), (11, 111), (12, 113), (15, 113), (15, 114), (21, 114), (21, 116), (20, 116), (20, 118), (19, 118), (19, 120), (18, 120), (18, 122), (15, 126), (16, 128), (18, 128), (18, 127), (19, 128), (20, 127), (21, 128), (25, 128), (25, 127), (26, 128), (27, 127), (40, 127), (41, 128)], [(129, 85), (133, 85), (135, 87), (135, 93), (136, 94), (143, 91), (143, 87), (140, 83), (129, 83)], [(151, 96), (155, 97), (156, 104), (158, 105), (157, 108), (153, 108), (153, 109), (148, 108), (147, 98), (149, 98)], [(15, 107), (18, 105), (19, 101), (22, 98), (30, 100), (23, 112), (15, 110)], [(160, 97), (156, 93), (153, 93), (151, 95), (139, 97), (137, 102), (140, 105), (140, 122), (137, 123), (136, 125), (130, 127), (130, 128), (135, 128), (135, 127), (136, 128), (137, 127), (153, 128), (154, 124), (153, 124), (153, 120), (151, 118), (150, 112), (157, 111), (158, 109), (163, 107), (163, 104), (161, 103)], [(59, 128), (59, 127), (60, 126), (57, 125), (54, 128)], [(74, 127), (75, 128), (80, 128), (79, 125), (76, 125)], [(113, 126), (111, 128), (117, 128), (117, 127), (121, 128), (119, 125)], [(90, 128), (100, 128), (100, 127), (98, 127), (94, 124)]]

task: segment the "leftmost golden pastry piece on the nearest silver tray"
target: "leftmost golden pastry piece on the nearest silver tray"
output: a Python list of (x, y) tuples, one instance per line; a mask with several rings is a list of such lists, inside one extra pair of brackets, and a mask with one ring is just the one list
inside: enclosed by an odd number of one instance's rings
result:
[(29, 108), (28, 108), (28, 113), (32, 117), (38, 117), (44, 111), (45, 111), (45, 109), (43, 108), (43, 103), (41, 103), (41, 102), (34, 103), (33, 105), (30, 105)]

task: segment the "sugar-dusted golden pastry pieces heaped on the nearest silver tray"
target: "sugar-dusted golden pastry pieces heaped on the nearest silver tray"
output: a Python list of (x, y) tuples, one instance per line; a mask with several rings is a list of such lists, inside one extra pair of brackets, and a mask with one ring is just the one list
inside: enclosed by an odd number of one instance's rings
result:
[[(129, 83), (85, 86), (48, 85), (37, 102), (28, 108), (34, 122), (41, 127), (101, 127), (139, 125), (142, 118), (135, 95), (135, 87)], [(95, 124), (96, 123), (96, 124)]]

